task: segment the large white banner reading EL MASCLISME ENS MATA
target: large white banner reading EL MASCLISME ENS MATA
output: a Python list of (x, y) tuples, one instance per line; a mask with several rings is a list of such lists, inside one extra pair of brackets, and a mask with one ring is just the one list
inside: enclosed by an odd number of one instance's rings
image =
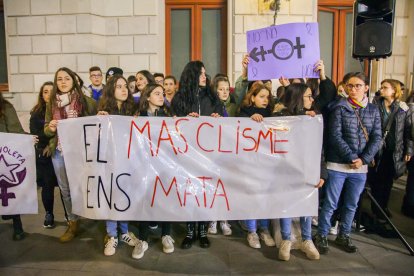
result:
[(322, 117), (59, 122), (73, 212), (197, 221), (317, 215)]

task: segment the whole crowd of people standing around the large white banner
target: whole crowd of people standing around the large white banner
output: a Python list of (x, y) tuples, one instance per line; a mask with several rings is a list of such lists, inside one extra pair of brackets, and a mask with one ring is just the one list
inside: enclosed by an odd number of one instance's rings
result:
[[(72, 212), (69, 181), (57, 133), (57, 125), (67, 118), (93, 115), (121, 116), (212, 116), (250, 117), (262, 122), (272, 116), (315, 116), (324, 120), (323, 150), (321, 152), (320, 212), (317, 219), (301, 217), (300, 249), (311, 260), (329, 250), (327, 236), (337, 234), (334, 243), (346, 252), (356, 252), (350, 234), (361, 193), (366, 183), (388, 217), (393, 180), (408, 170), (407, 190), (402, 212), (414, 217), (414, 161), (411, 160), (414, 140), (414, 96), (404, 97), (403, 84), (385, 79), (372, 103), (368, 99), (369, 83), (360, 72), (350, 72), (335, 84), (325, 75), (323, 61), (318, 61), (315, 72), (318, 79), (286, 79), (280, 77), (277, 94), (272, 94), (272, 81), (248, 81), (250, 58), (242, 60), (242, 74), (232, 88), (225, 74), (211, 78), (201, 61), (189, 62), (179, 78), (138, 71), (125, 78), (123, 70), (111, 67), (106, 71), (105, 84), (101, 68), (89, 70), (91, 84), (71, 69), (59, 68), (53, 81), (41, 87), (36, 105), (31, 110), (30, 133), (36, 140), (37, 182), (45, 209), (45, 228), (54, 228), (54, 188), (59, 187), (65, 210), (67, 229), (61, 242), (75, 238), (79, 229), (79, 216)], [(0, 93), (0, 132), (25, 133), (13, 106)], [(277, 172), (275, 172), (277, 173)], [(384, 219), (380, 210), (372, 205), (379, 221)], [(3, 216), (13, 220), (13, 239), (25, 237), (20, 215)], [(154, 218), (156, 220), (156, 218)], [(338, 222), (339, 221), (339, 224)], [(313, 222), (313, 223), (312, 223)], [(171, 236), (173, 222), (140, 221), (137, 236), (128, 229), (127, 221), (106, 221), (107, 235), (104, 254), (115, 254), (120, 241), (134, 247), (132, 257), (140, 259), (148, 250), (150, 229), (162, 228), (162, 245), (165, 253), (174, 252)], [(189, 221), (181, 248), (189, 249), (198, 239), (200, 247), (208, 248), (208, 235), (232, 235), (229, 221)], [(269, 231), (270, 218), (239, 222), (247, 231), (247, 244), (260, 248), (276, 246)], [(312, 236), (312, 224), (317, 225)], [(279, 259), (290, 259), (292, 218), (280, 219), (282, 240)], [(339, 230), (335, 230), (339, 225)]]

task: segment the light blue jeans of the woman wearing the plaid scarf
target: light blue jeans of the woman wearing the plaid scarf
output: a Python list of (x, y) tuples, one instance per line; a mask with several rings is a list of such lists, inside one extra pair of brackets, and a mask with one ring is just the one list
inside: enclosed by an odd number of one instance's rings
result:
[(59, 150), (56, 150), (55, 155), (52, 156), (52, 163), (62, 193), (63, 207), (65, 207), (68, 214), (68, 220), (78, 220), (79, 217), (72, 213), (72, 199), (70, 197), (69, 180), (66, 175), (65, 160)]

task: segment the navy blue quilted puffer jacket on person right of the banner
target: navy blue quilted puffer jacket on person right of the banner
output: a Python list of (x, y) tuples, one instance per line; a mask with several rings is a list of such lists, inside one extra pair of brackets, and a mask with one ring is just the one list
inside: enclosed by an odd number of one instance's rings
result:
[(368, 131), (369, 142), (365, 139), (354, 109), (347, 99), (341, 99), (335, 103), (329, 115), (326, 161), (351, 164), (352, 160), (361, 158), (364, 164), (368, 164), (374, 160), (382, 142), (378, 107), (369, 103), (365, 108), (358, 108), (357, 112)]

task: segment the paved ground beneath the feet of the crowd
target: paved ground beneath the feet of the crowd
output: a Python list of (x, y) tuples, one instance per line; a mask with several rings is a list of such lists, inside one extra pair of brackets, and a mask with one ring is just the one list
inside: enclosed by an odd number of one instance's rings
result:
[[(403, 190), (404, 181), (397, 182), (392, 192), (390, 209), (394, 223), (414, 246), (414, 219), (401, 215), (399, 211)], [(68, 244), (61, 244), (58, 237), (65, 231), (65, 223), (60, 200), (55, 203), (55, 229), (42, 227), (44, 210), (41, 201), (39, 212), (38, 215), (22, 216), (28, 234), (20, 242), (11, 240), (11, 222), (0, 220), (0, 275), (414, 274), (414, 257), (408, 254), (398, 239), (385, 239), (361, 232), (353, 235), (354, 243), (359, 247), (356, 254), (344, 253), (331, 246), (330, 253), (323, 255), (319, 261), (309, 261), (302, 252), (294, 250), (291, 260), (282, 262), (277, 260), (275, 247), (248, 247), (246, 234), (233, 222), (233, 236), (211, 237), (212, 246), (209, 249), (201, 249), (198, 245), (189, 250), (180, 249), (185, 231), (183, 224), (176, 224), (172, 236), (177, 246), (173, 254), (162, 252), (158, 229), (152, 232), (150, 248), (143, 259), (132, 259), (132, 248), (124, 244), (118, 247), (114, 256), (105, 257), (103, 222), (82, 219), (79, 236)], [(136, 233), (136, 223), (132, 223), (130, 229)]]

